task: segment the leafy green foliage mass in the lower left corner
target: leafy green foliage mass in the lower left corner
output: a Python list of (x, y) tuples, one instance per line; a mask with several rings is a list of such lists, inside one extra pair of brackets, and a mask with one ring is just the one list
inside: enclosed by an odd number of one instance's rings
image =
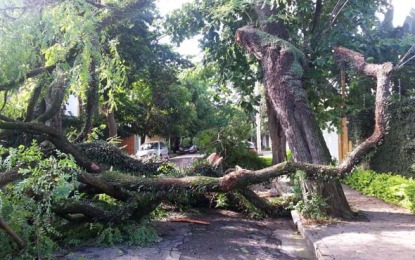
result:
[[(38, 162), (36, 167), (20, 169), (23, 180), (10, 183), (0, 190), (0, 218), (22, 238), (26, 247), (18, 251), (11, 238), (0, 232), (1, 259), (52, 259), (59, 248), (56, 242), (62, 234), (57, 226), (64, 220), (57, 218), (52, 204), (67, 199), (75, 187), (77, 166), (71, 156), (57, 152), (57, 157), (41, 158), (34, 142), (26, 149), (5, 148), (0, 153), (0, 170), (9, 170), (25, 162)], [(73, 197), (76, 197), (74, 195)]]

